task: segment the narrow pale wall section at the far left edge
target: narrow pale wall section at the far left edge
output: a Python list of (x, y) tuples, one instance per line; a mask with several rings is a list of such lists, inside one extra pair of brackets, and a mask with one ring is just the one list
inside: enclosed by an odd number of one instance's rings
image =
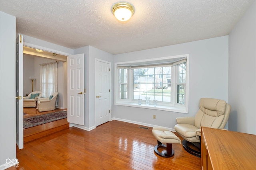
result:
[(16, 18), (0, 11), (0, 169), (16, 158)]

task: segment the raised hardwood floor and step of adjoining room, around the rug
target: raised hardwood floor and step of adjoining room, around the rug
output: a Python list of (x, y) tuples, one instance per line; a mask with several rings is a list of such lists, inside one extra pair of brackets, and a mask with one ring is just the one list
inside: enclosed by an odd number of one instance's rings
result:
[[(66, 109), (57, 108), (56, 110), (52, 110), (52, 111), (39, 112), (35, 107), (24, 107), (23, 112), (26, 113), (26, 115), (23, 115), (23, 118), (33, 117), (36, 115), (43, 115), (47, 113), (53, 113), (61, 110), (66, 110)], [(50, 135), (52, 133), (55, 133), (57, 131), (60, 131), (62, 129), (67, 129), (67, 128), (69, 128), (69, 123), (67, 121), (67, 118), (45, 123), (35, 127), (30, 127), (28, 129), (23, 130), (23, 140), (24, 140), (24, 143), (27, 143), (35, 139), (38, 139), (40, 137), (44, 137), (46, 135)]]

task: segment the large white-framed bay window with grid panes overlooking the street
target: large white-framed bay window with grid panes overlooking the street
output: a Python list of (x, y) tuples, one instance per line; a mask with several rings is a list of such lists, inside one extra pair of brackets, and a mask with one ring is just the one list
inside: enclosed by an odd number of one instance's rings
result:
[(115, 63), (115, 104), (187, 113), (188, 57)]

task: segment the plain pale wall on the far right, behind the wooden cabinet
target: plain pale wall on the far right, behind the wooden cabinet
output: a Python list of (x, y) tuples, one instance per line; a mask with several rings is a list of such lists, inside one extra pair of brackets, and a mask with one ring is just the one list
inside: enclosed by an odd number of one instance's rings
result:
[(228, 128), (256, 134), (256, 2), (229, 35)]

